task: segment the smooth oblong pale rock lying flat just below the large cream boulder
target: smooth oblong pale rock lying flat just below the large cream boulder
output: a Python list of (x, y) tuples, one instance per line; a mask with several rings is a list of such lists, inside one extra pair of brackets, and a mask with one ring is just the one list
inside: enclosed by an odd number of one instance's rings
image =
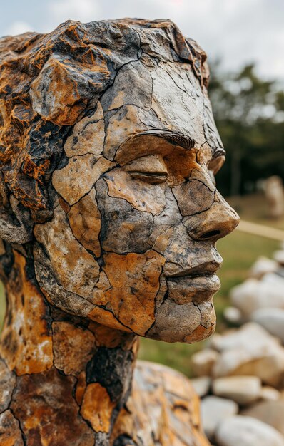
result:
[(213, 381), (214, 395), (230, 398), (238, 404), (250, 404), (258, 400), (261, 381), (257, 376), (228, 376)]

